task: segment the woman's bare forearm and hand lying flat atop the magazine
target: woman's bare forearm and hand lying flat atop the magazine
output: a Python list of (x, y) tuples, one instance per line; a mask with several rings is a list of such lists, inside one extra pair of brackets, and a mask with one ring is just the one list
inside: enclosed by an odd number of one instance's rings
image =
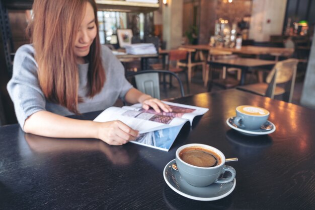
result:
[(169, 105), (163, 103), (159, 99), (152, 98), (149, 95), (146, 95), (135, 88), (131, 88), (125, 95), (125, 100), (128, 103), (135, 104), (141, 103), (143, 109), (148, 110), (152, 107), (156, 112), (161, 112), (160, 108), (165, 112), (171, 112), (172, 109)]

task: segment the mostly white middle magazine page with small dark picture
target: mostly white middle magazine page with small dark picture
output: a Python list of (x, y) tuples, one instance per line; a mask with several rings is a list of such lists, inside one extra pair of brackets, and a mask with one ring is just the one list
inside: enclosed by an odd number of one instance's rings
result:
[(128, 110), (120, 107), (109, 107), (98, 115), (94, 121), (108, 122), (120, 120), (139, 133), (161, 130), (184, 124), (187, 120), (164, 115), (155, 115), (137, 110)]

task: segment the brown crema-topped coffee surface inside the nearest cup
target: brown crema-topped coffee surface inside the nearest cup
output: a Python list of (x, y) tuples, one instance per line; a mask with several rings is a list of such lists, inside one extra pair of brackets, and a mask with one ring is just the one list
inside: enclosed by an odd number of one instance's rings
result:
[(220, 165), (221, 158), (211, 150), (201, 147), (188, 147), (183, 149), (179, 157), (186, 163), (199, 167), (214, 167)]

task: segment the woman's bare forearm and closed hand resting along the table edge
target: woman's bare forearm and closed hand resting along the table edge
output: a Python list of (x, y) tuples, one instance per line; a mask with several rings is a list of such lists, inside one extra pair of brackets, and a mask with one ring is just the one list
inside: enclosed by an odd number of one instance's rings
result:
[(25, 132), (47, 137), (99, 138), (109, 145), (126, 144), (138, 136), (137, 130), (119, 120), (110, 122), (78, 120), (48, 111), (32, 114), (25, 120), (23, 129)]

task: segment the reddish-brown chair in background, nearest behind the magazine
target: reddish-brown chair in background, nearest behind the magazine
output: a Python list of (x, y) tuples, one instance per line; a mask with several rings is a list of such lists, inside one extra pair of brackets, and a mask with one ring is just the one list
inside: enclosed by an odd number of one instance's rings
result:
[[(179, 74), (179, 73), (185, 74), (187, 91), (189, 93), (190, 92), (190, 90), (189, 90), (189, 72), (187, 74), (187, 71), (185, 71), (185, 69), (183, 68), (183, 67), (188, 68), (188, 66), (182, 65), (183, 61), (187, 60), (187, 59), (189, 59), (188, 58), (188, 51), (180, 50), (180, 49), (170, 50), (169, 51), (169, 59), (168, 59), (168, 63), (167, 63), (167, 70), (170, 72), (173, 72), (175, 74)], [(172, 85), (172, 78), (170, 78), (170, 84)]]

